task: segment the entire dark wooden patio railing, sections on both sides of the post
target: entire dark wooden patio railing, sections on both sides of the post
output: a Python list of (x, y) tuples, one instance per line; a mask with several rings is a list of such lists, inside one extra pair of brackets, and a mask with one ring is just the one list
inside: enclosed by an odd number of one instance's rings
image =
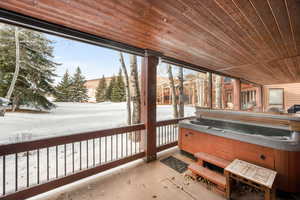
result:
[[(184, 119), (156, 123), (157, 151), (177, 145)], [(29, 198), (143, 158), (143, 130), (138, 124), (0, 145), (0, 200)]]

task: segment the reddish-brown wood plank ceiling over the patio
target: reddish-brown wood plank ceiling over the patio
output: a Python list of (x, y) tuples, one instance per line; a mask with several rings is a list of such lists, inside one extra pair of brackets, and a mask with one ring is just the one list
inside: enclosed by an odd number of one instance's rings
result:
[(299, 0), (1, 0), (0, 7), (259, 84), (300, 82)]

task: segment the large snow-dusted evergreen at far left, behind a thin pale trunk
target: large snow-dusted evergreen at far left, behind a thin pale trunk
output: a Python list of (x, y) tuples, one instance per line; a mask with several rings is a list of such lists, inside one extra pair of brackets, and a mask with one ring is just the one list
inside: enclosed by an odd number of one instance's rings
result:
[[(2, 25), (0, 29), (0, 96), (4, 97), (12, 82), (16, 66), (15, 28)], [(52, 61), (52, 41), (43, 33), (19, 28), (20, 71), (10, 100), (14, 108), (29, 105), (37, 109), (51, 109), (55, 105), (46, 96), (55, 95), (55, 69)]]

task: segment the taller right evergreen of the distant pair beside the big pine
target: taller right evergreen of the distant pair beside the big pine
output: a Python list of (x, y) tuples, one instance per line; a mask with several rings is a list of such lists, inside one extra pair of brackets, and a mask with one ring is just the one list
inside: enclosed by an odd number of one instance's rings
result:
[(81, 73), (79, 67), (77, 67), (74, 76), (72, 77), (71, 85), (71, 100), (73, 102), (85, 102), (88, 100), (87, 88), (84, 85), (85, 78)]

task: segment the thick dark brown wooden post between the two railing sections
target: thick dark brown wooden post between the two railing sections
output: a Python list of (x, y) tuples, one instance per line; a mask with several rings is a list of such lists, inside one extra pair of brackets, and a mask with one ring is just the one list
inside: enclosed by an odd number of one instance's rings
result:
[(146, 162), (156, 160), (156, 73), (158, 56), (146, 51), (141, 69), (141, 119), (146, 126), (143, 146)]

